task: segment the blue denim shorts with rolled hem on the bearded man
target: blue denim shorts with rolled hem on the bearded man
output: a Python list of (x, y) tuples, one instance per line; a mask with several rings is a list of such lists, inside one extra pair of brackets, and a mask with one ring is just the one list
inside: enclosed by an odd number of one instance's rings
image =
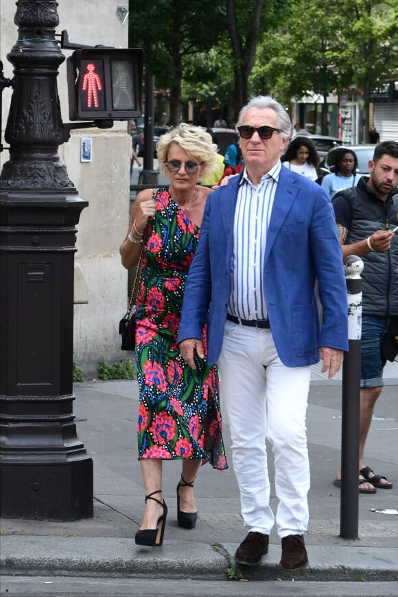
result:
[(361, 388), (384, 386), (386, 359), (382, 355), (382, 346), (387, 330), (388, 317), (362, 316)]

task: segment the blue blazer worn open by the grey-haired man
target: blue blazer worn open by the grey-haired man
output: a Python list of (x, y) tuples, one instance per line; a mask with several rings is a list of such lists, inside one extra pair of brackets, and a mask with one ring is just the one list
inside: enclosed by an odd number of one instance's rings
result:
[[(222, 349), (241, 179), (242, 174), (235, 176), (209, 194), (185, 286), (178, 343), (201, 339), (207, 323), (208, 364), (216, 362)], [(325, 189), (288, 168), (281, 168), (268, 227), (264, 292), (283, 364), (314, 364), (319, 360), (318, 347), (348, 350), (347, 290), (331, 202)]]

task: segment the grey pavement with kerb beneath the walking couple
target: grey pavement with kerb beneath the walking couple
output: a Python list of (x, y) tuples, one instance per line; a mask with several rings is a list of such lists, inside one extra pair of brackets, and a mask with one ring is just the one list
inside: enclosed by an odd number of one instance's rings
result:
[[(397, 581), (398, 515), (398, 363), (386, 366), (380, 397), (366, 443), (366, 464), (394, 481), (393, 489), (359, 495), (359, 539), (340, 538), (340, 490), (332, 480), (340, 465), (341, 375), (328, 381), (314, 366), (309, 393), (307, 436), (312, 487), (309, 529), (305, 537), (309, 567), (279, 568), (281, 542), (273, 529), (270, 550), (246, 578), (272, 581)], [(94, 517), (75, 522), (1, 520), (3, 574), (150, 576), (152, 578), (226, 579), (245, 537), (239, 492), (233, 474), (229, 422), (223, 436), (229, 469), (204, 465), (195, 486), (198, 524), (176, 522), (178, 461), (163, 464), (163, 495), (169, 514), (162, 547), (143, 548), (134, 534), (144, 511), (144, 489), (137, 460), (137, 382), (75, 384), (78, 436), (94, 463)], [(270, 473), (273, 463), (270, 459)], [(277, 506), (274, 489), (271, 504)]]

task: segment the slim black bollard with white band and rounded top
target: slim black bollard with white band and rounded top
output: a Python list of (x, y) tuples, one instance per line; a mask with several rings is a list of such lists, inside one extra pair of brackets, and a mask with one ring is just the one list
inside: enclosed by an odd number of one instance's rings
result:
[(358, 539), (358, 474), (360, 444), (360, 373), (362, 330), (362, 278), (364, 263), (350, 255), (344, 259), (347, 283), (349, 351), (342, 366), (342, 441), (340, 537)]

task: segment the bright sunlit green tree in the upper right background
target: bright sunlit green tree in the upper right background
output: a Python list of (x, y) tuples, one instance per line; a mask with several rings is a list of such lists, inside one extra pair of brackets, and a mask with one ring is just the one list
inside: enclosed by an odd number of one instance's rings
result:
[(268, 86), (285, 102), (309, 91), (323, 96), (324, 134), (327, 95), (356, 86), (368, 131), (372, 91), (398, 76), (397, 6), (398, 0), (307, 0), (303, 7), (291, 0), (283, 27), (261, 35), (250, 84)]

